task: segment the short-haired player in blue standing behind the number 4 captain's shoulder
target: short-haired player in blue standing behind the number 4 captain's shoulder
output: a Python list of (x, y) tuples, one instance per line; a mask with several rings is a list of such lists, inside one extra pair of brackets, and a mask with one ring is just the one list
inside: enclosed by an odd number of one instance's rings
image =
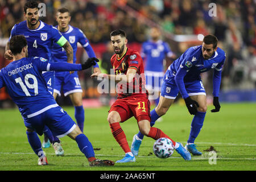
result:
[[(76, 27), (69, 25), (71, 16), (68, 9), (61, 8), (57, 10), (56, 14), (57, 26), (55, 26), (65, 39), (69, 41), (73, 48), (73, 63), (76, 63), (77, 43), (80, 43), (85, 49), (89, 57), (96, 57), (88, 39), (84, 33)], [(52, 44), (52, 59), (55, 62), (65, 62), (67, 55), (63, 48), (56, 43)], [(93, 66), (93, 72), (101, 72), (98, 64)], [(56, 72), (55, 73), (55, 87), (53, 97), (56, 99), (57, 94), (61, 94), (61, 86), (64, 96), (71, 98), (72, 104), (75, 106), (75, 118), (80, 130), (84, 130), (84, 107), (82, 106), (82, 88), (79, 81), (77, 72), (69, 74), (69, 72)]]

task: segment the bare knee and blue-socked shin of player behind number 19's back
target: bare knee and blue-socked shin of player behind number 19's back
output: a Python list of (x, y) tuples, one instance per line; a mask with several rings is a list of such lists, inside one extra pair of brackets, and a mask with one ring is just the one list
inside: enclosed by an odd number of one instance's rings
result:
[(72, 104), (75, 107), (76, 123), (80, 130), (84, 131), (84, 106), (82, 106), (82, 92), (75, 92), (69, 94)]

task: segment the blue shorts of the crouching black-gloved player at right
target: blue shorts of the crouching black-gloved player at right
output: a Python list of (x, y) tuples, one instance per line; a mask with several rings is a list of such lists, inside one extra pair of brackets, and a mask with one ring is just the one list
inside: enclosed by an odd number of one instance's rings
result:
[[(185, 89), (189, 96), (205, 95), (205, 89), (201, 80), (194, 80), (190, 82), (184, 82)], [(177, 88), (176, 82), (173, 80), (163, 81), (161, 96), (169, 99), (175, 99), (179, 89)]]

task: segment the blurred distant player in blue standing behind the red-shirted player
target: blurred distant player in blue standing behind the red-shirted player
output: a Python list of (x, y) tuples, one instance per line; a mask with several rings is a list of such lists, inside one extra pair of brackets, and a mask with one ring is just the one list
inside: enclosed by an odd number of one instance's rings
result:
[(171, 51), (168, 43), (160, 40), (160, 30), (158, 27), (150, 29), (150, 40), (142, 44), (141, 56), (145, 66), (146, 88), (150, 93), (150, 100), (155, 100), (158, 105), (160, 88), (164, 76), (164, 59), (174, 59), (175, 55)]

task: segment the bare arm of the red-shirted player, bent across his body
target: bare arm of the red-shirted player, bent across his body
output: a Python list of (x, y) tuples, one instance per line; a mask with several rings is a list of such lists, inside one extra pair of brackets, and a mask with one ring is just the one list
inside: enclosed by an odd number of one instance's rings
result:
[(109, 80), (114, 80), (114, 81), (123, 81), (123, 82), (132, 82), (134, 76), (137, 73), (137, 69), (134, 68), (129, 68), (127, 70), (126, 75), (108, 75), (106, 73), (93, 73), (90, 77), (100, 77), (100, 78), (108, 78)]

